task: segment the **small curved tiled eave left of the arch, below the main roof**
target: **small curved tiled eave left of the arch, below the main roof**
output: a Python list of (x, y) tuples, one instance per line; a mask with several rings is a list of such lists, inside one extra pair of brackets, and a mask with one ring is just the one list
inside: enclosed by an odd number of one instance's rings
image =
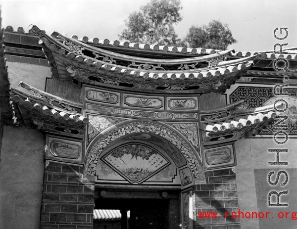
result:
[[(14, 107), (20, 106), (29, 113), (34, 113), (51, 121), (76, 126), (84, 126), (89, 122), (89, 119), (81, 114), (55, 107), (45, 98), (21, 92), (15, 88), (10, 88), (10, 100)], [(23, 114), (21, 114), (21, 116), (23, 116)], [(20, 116), (18, 118), (20, 119)]]

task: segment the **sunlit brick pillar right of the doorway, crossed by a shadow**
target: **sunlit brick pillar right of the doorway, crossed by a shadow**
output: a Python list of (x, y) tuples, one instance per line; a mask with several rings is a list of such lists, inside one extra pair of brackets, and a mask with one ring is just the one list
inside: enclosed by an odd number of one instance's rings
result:
[[(240, 229), (236, 175), (231, 169), (204, 172), (206, 184), (194, 185), (194, 229)], [(217, 212), (216, 219), (201, 219), (198, 212)], [(225, 218), (225, 212), (229, 212)]]

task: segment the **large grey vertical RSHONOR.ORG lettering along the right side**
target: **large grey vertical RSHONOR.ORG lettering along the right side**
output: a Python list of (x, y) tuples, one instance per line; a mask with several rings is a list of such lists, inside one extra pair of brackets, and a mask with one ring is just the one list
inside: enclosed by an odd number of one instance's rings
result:
[[(280, 29), (280, 30), (279, 30)], [(279, 31), (278, 31), (279, 30)], [(279, 38), (276, 36), (276, 32), (279, 32), (280, 34), (283, 34), (284, 32), (286, 32), (286, 36), (284, 36), (283, 38)], [(288, 28), (276, 28), (274, 30), (274, 33), (273, 33), (274, 37), (277, 39), (277, 40), (285, 40), (287, 37), (288, 37)], [(285, 43), (285, 44), (275, 44), (274, 45), (274, 54), (287, 54), (288, 52), (283, 52), (282, 51), (282, 47), (283, 46), (287, 46), (288, 43)], [(279, 51), (276, 51), (275, 48), (279, 46), (280, 47), (280, 50)], [(284, 64), (280, 64), (280, 63), (285, 63), (285, 67), (284, 67)], [(281, 65), (282, 68), (279, 68)], [(288, 68), (288, 61), (284, 58), (277, 58), (274, 62), (273, 62), (273, 66), (274, 68), (277, 70), (277, 71), (285, 71), (287, 68)], [(288, 80), (288, 77), (285, 77), (284, 80)], [(274, 95), (288, 95), (288, 93), (283, 93), (282, 90), (284, 87), (288, 87), (288, 84), (286, 85), (275, 85), (274, 86), (274, 90), (273, 90), (273, 94)], [(279, 110), (278, 108), (276, 108), (276, 103), (277, 102), (284, 102), (286, 104), (286, 107), (282, 110)], [(278, 112), (285, 112), (287, 109), (288, 109), (288, 103), (286, 100), (284, 99), (277, 99), (275, 102), (274, 102), (274, 109)], [(279, 122), (277, 122), (275, 124), (275, 127), (277, 128), (280, 128), (280, 130), (278, 132), (276, 132), (273, 136), (273, 139), (276, 143), (278, 144), (284, 144), (288, 141), (288, 135), (286, 132), (284, 132), (282, 130), (282, 128), (286, 128), (288, 127), (288, 125), (280, 125), (282, 122), (284, 122), (288, 116), (275, 116), (275, 118), (277, 119), (281, 119), (279, 120)], [(283, 141), (278, 141), (276, 139), (277, 136), (283, 136), (285, 135), (286, 139), (283, 140)], [(288, 152), (288, 149), (268, 149), (268, 152), (274, 152), (276, 153), (276, 162), (268, 162), (268, 165), (288, 165), (288, 162), (280, 162), (280, 153), (281, 152)], [(289, 182), (289, 176), (288, 176), (288, 173), (284, 170), (280, 170), (277, 175), (276, 175), (276, 179), (275, 179), (275, 182), (272, 182), (271, 181), (271, 176), (274, 174), (274, 172), (270, 172), (268, 174), (268, 183), (272, 186), (275, 186), (278, 182), (279, 182), (279, 178), (280, 178), (280, 175), (281, 174), (284, 174), (286, 176), (286, 180), (281, 183), (281, 186), (285, 186), (288, 182)], [(274, 179), (273, 179), (274, 180)], [(280, 203), (280, 196), (283, 195), (283, 194), (288, 194), (288, 190), (286, 190), (287, 188), (284, 188), (284, 191), (280, 191), (280, 192), (277, 192), (277, 191), (270, 191), (269, 194), (268, 194), (268, 206), (270, 207), (283, 207), (283, 206), (288, 206), (287, 203)], [(277, 197), (277, 203), (271, 203), (271, 195), (276, 195)]]

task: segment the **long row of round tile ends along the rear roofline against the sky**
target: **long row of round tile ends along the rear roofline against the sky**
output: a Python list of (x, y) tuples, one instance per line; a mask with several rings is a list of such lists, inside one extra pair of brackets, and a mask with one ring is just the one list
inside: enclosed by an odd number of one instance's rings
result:
[[(31, 35), (35, 36), (34, 32), (30, 29), (28, 33), (25, 33), (23, 27), (18, 27), (17, 31), (13, 30), (12, 26), (7, 26), (4, 30), (5, 32), (10, 33), (18, 33), (24, 35)], [(45, 31), (44, 31), (45, 32)], [(91, 44), (91, 45), (104, 45), (104, 46), (118, 46), (118, 47), (125, 47), (125, 48), (134, 48), (134, 49), (144, 49), (144, 50), (154, 50), (154, 51), (164, 51), (164, 52), (173, 52), (173, 53), (183, 53), (183, 54), (213, 54), (220, 50), (217, 49), (209, 49), (209, 48), (189, 48), (189, 47), (176, 47), (176, 46), (158, 46), (158, 45), (149, 45), (149, 44), (139, 44), (139, 43), (129, 43), (129, 42), (120, 42), (118, 40), (109, 41), (108, 39), (99, 40), (98, 38), (89, 39), (88, 37), (84, 36), (81, 39), (78, 39), (78, 36), (73, 35), (71, 36), (72, 39), (79, 40), (83, 43)], [(275, 54), (272, 51), (259, 51), (259, 52), (249, 52), (249, 51), (236, 51), (230, 52), (230, 56), (232, 57), (248, 57), (252, 55), (256, 55), (262, 53), (262, 58), (286, 58), (290, 59), (297, 59), (297, 51), (291, 50), (295, 49), (290, 48), (286, 50), (287, 54)]]

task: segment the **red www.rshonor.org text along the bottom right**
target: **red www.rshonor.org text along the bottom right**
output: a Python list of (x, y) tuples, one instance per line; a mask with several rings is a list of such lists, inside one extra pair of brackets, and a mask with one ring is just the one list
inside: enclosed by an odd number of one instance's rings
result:
[(233, 219), (292, 219), (297, 220), (297, 212), (279, 212), (277, 216), (273, 216), (270, 212), (242, 212), (238, 209), (237, 212), (225, 212), (223, 216), (218, 215), (218, 212), (198, 212), (199, 219), (220, 219), (231, 217)]

